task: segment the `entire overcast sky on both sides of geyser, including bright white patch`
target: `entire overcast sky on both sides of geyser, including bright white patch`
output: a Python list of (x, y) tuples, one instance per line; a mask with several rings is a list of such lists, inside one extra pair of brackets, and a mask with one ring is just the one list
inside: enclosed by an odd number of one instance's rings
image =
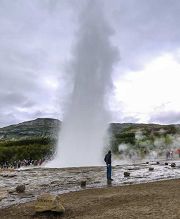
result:
[[(84, 2), (0, 0), (0, 127), (63, 118)], [(120, 53), (107, 98), (112, 121), (180, 123), (180, 1), (102, 2)]]

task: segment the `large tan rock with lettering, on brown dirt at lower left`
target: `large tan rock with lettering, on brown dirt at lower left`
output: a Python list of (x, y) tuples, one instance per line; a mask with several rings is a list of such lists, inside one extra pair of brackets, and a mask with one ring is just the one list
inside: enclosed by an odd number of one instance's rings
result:
[(44, 194), (37, 198), (35, 203), (35, 211), (36, 212), (45, 212), (45, 211), (53, 211), (58, 213), (64, 213), (65, 208), (60, 203), (60, 197)]

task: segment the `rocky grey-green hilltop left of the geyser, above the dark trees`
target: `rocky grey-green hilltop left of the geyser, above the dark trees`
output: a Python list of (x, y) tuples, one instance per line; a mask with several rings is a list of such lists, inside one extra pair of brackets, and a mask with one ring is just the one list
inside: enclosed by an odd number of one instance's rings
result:
[(58, 119), (37, 118), (32, 121), (0, 128), (0, 139), (18, 140), (39, 137), (57, 139), (60, 127), (61, 121)]

